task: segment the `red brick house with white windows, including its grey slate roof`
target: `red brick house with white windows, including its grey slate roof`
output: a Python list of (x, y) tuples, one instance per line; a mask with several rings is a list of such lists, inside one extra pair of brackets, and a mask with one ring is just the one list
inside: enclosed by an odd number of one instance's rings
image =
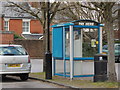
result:
[(6, 2), (0, 2), (0, 30), (12, 31), (25, 39), (39, 39), (43, 36), (42, 25), (28, 13), (19, 13), (14, 8), (4, 7)]

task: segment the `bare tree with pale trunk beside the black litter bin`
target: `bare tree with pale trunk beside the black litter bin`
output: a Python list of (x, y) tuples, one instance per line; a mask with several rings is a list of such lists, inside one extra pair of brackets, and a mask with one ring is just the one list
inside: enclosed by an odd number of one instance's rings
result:
[(92, 19), (104, 23), (104, 30), (107, 32), (108, 42), (108, 80), (116, 81), (115, 72), (115, 55), (114, 55), (114, 28), (113, 21), (118, 18), (113, 14), (118, 10), (113, 10), (116, 2), (87, 2), (87, 3), (67, 3), (74, 4), (74, 7), (69, 8), (68, 11), (63, 11), (61, 14), (64, 18), (77, 20), (77, 19)]

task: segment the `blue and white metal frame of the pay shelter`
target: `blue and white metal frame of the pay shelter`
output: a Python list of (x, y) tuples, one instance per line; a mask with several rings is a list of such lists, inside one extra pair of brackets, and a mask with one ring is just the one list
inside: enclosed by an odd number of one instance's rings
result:
[[(74, 22), (79, 22), (79, 21), (88, 21), (88, 22), (94, 22), (97, 23), (97, 26), (89, 26), (89, 25), (74, 25)], [(72, 80), (73, 77), (91, 77), (94, 75), (74, 75), (74, 61), (77, 60), (94, 60), (94, 57), (82, 57), (82, 58), (74, 58), (74, 35), (73, 35), (73, 28), (77, 27), (77, 28), (96, 28), (98, 29), (98, 53), (102, 52), (102, 30), (101, 30), (101, 26), (103, 26), (102, 24), (92, 21), (92, 20), (77, 20), (77, 21), (73, 21), (70, 23), (64, 23), (64, 24), (58, 24), (58, 25), (53, 25), (52, 27), (63, 27), (63, 57), (58, 58), (58, 57), (53, 57), (53, 75), (59, 75), (59, 76), (64, 76), (64, 77), (70, 77), (70, 79)], [(70, 57), (66, 57), (65, 56), (65, 28), (69, 28), (69, 32), (70, 32)], [(54, 39), (54, 37), (53, 37)], [(54, 54), (54, 53), (53, 53)], [(64, 64), (64, 72), (63, 74), (61, 73), (56, 73), (56, 59), (57, 60), (63, 60), (63, 64)], [(70, 75), (66, 75), (66, 60), (70, 60)]]

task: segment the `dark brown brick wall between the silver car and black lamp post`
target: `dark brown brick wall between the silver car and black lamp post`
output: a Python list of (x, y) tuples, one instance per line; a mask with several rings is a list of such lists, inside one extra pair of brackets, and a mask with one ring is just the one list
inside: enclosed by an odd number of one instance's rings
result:
[(43, 40), (14, 40), (14, 43), (22, 45), (31, 58), (43, 58)]

